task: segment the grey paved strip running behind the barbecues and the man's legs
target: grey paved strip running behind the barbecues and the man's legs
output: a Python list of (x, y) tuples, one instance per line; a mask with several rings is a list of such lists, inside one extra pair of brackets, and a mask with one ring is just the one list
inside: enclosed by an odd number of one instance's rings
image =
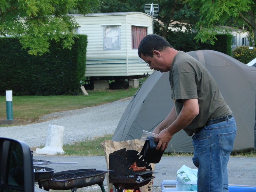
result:
[[(75, 169), (107, 170), (104, 156), (44, 156), (34, 154), (33, 159), (46, 160), (51, 162), (78, 162), (78, 164), (49, 164), (56, 171)], [(155, 164), (155, 172), (164, 172), (166, 175), (155, 174), (153, 186), (161, 186), (163, 180), (176, 180), (176, 172), (182, 165), (196, 169), (192, 157), (162, 157), (158, 164)], [(43, 166), (43, 165), (40, 165)], [(228, 162), (229, 184), (255, 185), (256, 186), (256, 157), (230, 157)], [(107, 185), (107, 179), (104, 180)]]

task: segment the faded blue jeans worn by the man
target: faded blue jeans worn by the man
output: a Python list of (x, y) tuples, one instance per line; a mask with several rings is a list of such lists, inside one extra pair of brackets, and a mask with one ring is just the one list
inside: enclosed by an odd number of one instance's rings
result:
[(234, 117), (204, 126), (193, 135), (198, 192), (228, 192), (227, 164), (235, 137)]

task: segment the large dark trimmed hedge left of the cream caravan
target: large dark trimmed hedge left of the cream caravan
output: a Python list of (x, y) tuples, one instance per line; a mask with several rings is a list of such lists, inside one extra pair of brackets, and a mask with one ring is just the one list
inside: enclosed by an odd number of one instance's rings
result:
[(71, 50), (51, 41), (49, 53), (29, 55), (17, 38), (0, 38), (0, 95), (63, 95), (79, 92), (85, 79), (87, 36), (79, 35)]

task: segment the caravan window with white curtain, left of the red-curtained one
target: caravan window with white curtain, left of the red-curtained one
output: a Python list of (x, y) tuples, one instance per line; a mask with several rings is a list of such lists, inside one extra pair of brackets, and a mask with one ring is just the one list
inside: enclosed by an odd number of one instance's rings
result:
[(104, 50), (115, 50), (121, 49), (120, 42), (120, 26), (103, 26), (104, 27), (104, 40), (103, 49)]

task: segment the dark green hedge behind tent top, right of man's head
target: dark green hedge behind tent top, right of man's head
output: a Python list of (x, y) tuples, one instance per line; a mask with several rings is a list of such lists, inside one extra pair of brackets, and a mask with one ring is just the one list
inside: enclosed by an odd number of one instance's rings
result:
[(231, 44), (232, 35), (230, 34), (218, 34), (216, 35), (217, 41), (214, 45), (210, 43), (196, 42), (194, 37), (196, 33), (183, 33), (180, 31), (169, 31), (166, 40), (173, 46), (174, 49), (190, 52), (196, 50), (214, 50), (225, 53), (229, 56), (232, 55)]

